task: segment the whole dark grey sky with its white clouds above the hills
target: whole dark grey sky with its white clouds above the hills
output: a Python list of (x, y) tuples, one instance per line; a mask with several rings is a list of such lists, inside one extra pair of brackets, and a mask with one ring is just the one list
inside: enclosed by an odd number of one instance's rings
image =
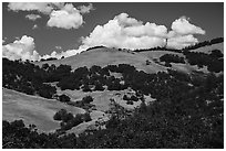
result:
[(68, 57), (96, 45), (182, 48), (219, 36), (223, 2), (2, 3), (2, 55), (10, 60)]

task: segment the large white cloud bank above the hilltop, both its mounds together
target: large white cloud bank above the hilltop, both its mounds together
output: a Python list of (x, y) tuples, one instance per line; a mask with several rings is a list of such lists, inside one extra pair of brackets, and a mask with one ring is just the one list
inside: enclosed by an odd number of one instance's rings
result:
[(194, 34), (205, 34), (199, 26), (182, 17), (172, 23), (168, 32), (165, 25), (143, 23), (127, 13), (121, 13), (104, 25), (97, 25), (82, 42), (88, 46), (105, 45), (120, 48), (150, 48), (156, 46), (182, 48), (197, 43)]

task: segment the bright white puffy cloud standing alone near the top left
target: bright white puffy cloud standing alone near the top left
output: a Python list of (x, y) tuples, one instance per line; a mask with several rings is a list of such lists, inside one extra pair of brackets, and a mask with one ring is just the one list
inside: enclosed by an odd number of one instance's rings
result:
[(73, 4), (68, 3), (61, 10), (52, 11), (48, 26), (62, 29), (79, 29), (83, 23), (83, 18)]

